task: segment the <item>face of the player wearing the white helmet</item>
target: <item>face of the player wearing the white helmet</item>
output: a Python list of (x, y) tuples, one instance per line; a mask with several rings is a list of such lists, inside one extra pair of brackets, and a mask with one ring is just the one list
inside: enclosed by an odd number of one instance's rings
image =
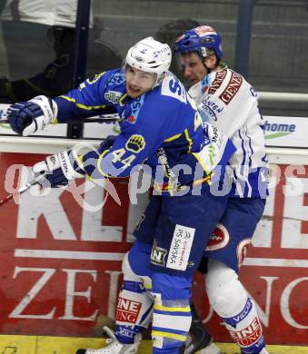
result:
[(139, 69), (127, 65), (125, 69), (125, 78), (127, 94), (132, 98), (136, 98), (152, 89), (154, 86), (155, 74), (144, 73)]

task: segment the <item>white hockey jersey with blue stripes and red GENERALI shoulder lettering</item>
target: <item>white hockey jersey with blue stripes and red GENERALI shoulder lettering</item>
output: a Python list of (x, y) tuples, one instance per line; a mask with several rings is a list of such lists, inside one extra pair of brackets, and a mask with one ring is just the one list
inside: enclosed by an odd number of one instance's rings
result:
[(257, 93), (228, 68), (210, 73), (189, 90), (204, 122), (225, 133), (236, 147), (229, 162), (231, 196), (267, 195), (268, 160)]

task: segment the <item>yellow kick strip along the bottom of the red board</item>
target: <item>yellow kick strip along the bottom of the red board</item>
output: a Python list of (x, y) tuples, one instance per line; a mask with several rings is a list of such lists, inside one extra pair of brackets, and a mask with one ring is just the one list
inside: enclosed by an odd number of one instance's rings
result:
[[(77, 349), (104, 347), (104, 339), (39, 337), (39, 336), (5, 336), (0, 335), (0, 352), (2, 354), (75, 354)], [(216, 343), (222, 354), (240, 354), (234, 344)], [(307, 354), (307, 347), (268, 346), (271, 354)], [(151, 354), (150, 340), (143, 340), (138, 354)]]

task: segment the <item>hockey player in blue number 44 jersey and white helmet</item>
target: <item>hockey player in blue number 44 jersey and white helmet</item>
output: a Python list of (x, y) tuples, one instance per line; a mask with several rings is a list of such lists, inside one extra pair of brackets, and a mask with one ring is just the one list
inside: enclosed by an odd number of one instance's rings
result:
[(169, 46), (148, 37), (128, 51), (123, 69), (95, 75), (54, 100), (39, 96), (9, 109), (9, 123), (22, 135), (96, 115), (105, 106), (123, 118), (113, 144), (83, 156), (75, 149), (60, 152), (35, 164), (34, 172), (52, 187), (84, 175), (129, 176), (141, 163), (152, 170), (154, 196), (123, 261), (116, 331), (106, 329), (111, 339), (105, 348), (78, 354), (135, 353), (152, 319), (154, 354), (175, 354), (190, 328), (192, 275), (226, 203), (209, 186), (235, 149), (202, 122), (183, 84), (168, 72), (170, 63)]

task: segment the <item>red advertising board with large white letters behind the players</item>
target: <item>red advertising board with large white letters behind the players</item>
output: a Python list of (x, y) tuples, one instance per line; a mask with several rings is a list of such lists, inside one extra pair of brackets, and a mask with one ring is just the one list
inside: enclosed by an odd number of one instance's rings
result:
[[(25, 166), (43, 158), (1, 153), (0, 198), (29, 179)], [(241, 279), (257, 303), (267, 342), (307, 345), (308, 171), (274, 167), (271, 196)], [(114, 317), (121, 260), (148, 202), (144, 193), (137, 205), (130, 203), (127, 182), (114, 186), (121, 206), (105, 199), (101, 187), (82, 181), (74, 193), (33, 188), (21, 204), (0, 208), (1, 333), (91, 336), (97, 313)], [(215, 340), (232, 341), (208, 306), (200, 274), (194, 277), (194, 302)]]

